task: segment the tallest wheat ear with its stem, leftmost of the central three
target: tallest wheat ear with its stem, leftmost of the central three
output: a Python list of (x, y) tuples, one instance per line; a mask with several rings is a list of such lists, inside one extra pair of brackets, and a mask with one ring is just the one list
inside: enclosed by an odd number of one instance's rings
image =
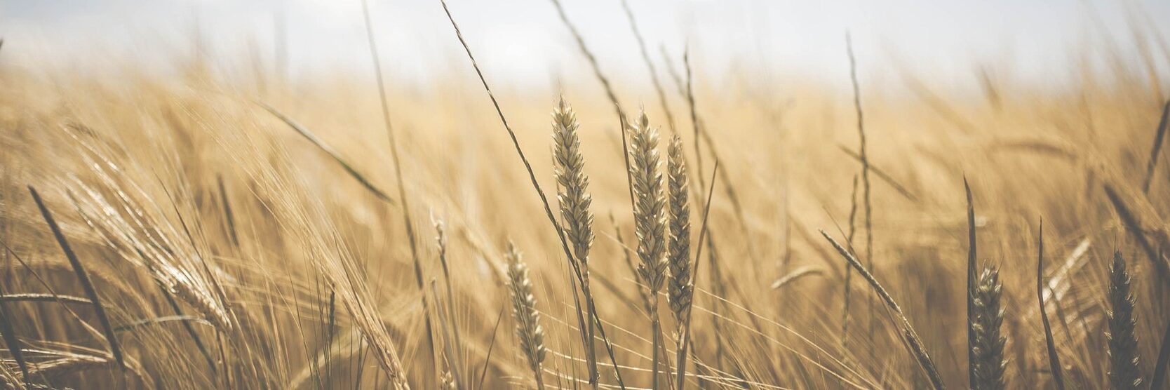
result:
[[(593, 246), (593, 213), (590, 205), (593, 197), (589, 193), (589, 177), (585, 176), (585, 157), (581, 156), (581, 142), (577, 136), (577, 114), (560, 96), (552, 109), (552, 144), (553, 163), (557, 183), (560, 184), (557, 203), (560, 206), (560, 218), (564, 221), (565, 235), (572, 244), (577, 267), (581, 273), (581, 292), (585, 295), (585, 310), (593, 317), (593, 294), (589, 281), (589, 252)], [(593, 350), (593, 321), (589, 321), (585, 340), (585, 360), (589, 363), (589, 382), (594, 388), (598, 384), (597, 353)]]

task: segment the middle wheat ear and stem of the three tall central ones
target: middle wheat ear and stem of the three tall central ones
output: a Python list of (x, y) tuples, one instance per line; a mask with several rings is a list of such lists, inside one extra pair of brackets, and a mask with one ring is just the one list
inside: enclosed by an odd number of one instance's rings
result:
[(659, 345), (662, 344), (662, 324), (658, 315), (658, 294), (666, 280), (666, 194), (662, 191), (661, 160), (658, 151), (659, 135), (651, 128), (646, 112), (629, 126), (629, 173), (634, 179), (634, 233), (638, 237), (638, 276), (651, 295), (651, 327), (654, 350), (651, 371), (652, 389), (659, 389)]

